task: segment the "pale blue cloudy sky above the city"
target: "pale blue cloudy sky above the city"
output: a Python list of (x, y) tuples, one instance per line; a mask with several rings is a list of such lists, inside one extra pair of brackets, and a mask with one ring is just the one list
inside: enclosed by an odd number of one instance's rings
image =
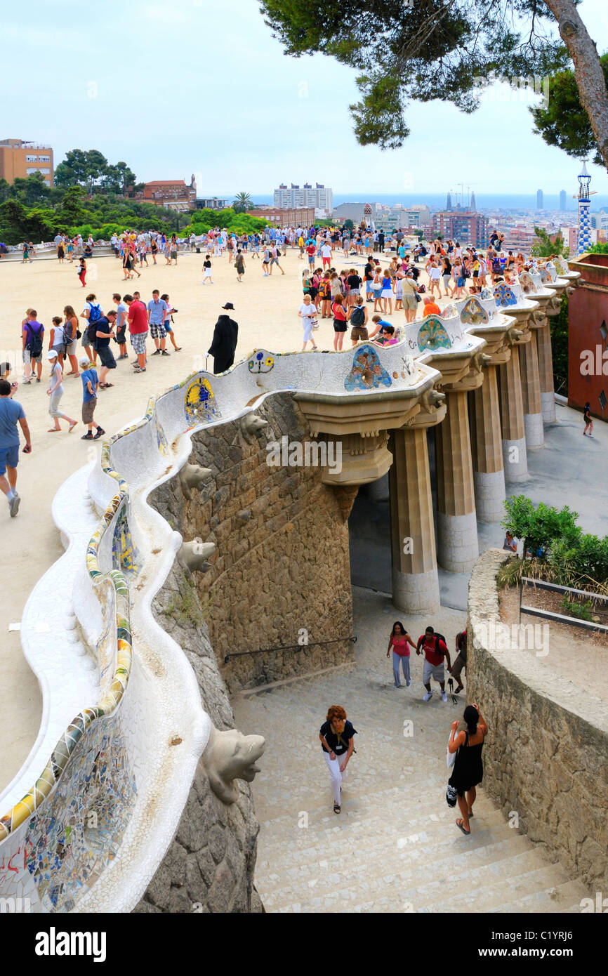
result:
[[(606, 0), (579, 10), (608, 50)], [(577, 188), (577, 160), (533, 134), (530, 96), (505, 86), (471, 115), (413, 102), (399, 149), (358, 145), (355, 72), (286, 57), (256, 0), (29, 0), (4, 6), (2, 40), (0, 138), (51, 144), (56, 166), (68, 149), (96, 148), (139, 182), (194, 173), (200, 196), (305, 182), (341, 195), (403, 191), (404, 202), (459, 183), (476, 194)], [(588, 170), (608, 193), (606, 172)]]

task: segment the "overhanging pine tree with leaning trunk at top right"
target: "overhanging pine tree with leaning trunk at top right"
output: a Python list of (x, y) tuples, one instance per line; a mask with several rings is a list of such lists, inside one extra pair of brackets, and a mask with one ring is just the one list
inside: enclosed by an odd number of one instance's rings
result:
[(350, 112), (362, 145), (401, 145), (411, 101), (470, 112), (493, 75), (544, 77), (573, 63), (608, 166), (608, 93), (577, 0), (262, 0), (261, 9), (287, 54), (321, 53), (358, 72)]

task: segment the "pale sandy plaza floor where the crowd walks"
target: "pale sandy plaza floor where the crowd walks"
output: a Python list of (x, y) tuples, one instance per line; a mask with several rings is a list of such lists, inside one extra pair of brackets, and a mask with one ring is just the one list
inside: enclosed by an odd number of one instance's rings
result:
[[(21, 378), (20, 322), (27, 307), (34, 307), (38, 319), (47, 330), (54, 315), (61, 315), (64, 305), (73, 305), (79, 314), (85, 296), (94, 292), (104, 310), (114, 307), (114, 291), (124, 295), (133, 290), (142, 293), (142, 300), (151, 298), (153, 288), (167, 292), (172, 305), (179, 308), (175, 332), (181, 352), (168, 345), (171, 356), (155, 356), (148, 361), (148, 369), (139, 376), (132, 375), (130, 362), (123, 360), (111, 375), (113, 388), (100, 392), (96, 420), (109, 435), (142, 416), (148, 397), (162, 392), (185, 378), (194, 369), (205, 367), (205, 356), (211, 344), (213, 327), (221, 306), (232, 302), (232, 317), (239, 325), (237, 361), (254, 348), (268, 348), (276, 352), (302, 348), (302, 325), (298, 308), (302, 301), (301, 276), (305, 266), (298, 250), (289, 250), (281, 262), (285, 274), (276, 268), (269, 278), (263, 277), (262, 262), (246, 259), (244, 281), (236, 281), (234, 267), (227, 255), (212, 258), (215, 284), (202, 285), (204, 256), (184, 253), (179, 264), (159, 263), (142, 268), (142, 277), (123, 281), (121, 263), (113, 257), (101, 257), (88, 262), (87, 287), (82, 288), (76, 276), (76, 264), (59, 264), (52, 259), (38, 259), (32, 264), (0, 262), (0, 284), (3, 301), (0, 307), (0, 361), (18, 363), (11, 379)], [(150, 259), (151, 261), (151, 259)], [(383, 262), (387, 264), (388, 262)], [(363, 270), (365, 258), (359, 256), (347, 262), (338, 253), (335, 266), (356, 266)], [(426, 281), (423, 272), (421, 280)], [(442, 300), (445, 305), (446, 300)], [(419, 316), (422, 315), (422, 303)], [(373, 305), (367, 305), (370, 310)], [(403, 324), (403, 312), (385, 316), (394, 324)], [(320, 322), (315, 333), (320, 348), (332, 348), (332, 322)], [(148, 340), (148, 346), (151, 346)], [(48, 342), (45, 347), (48, 346)], [(345, 337), (345, 348), (350, 343)], [(116, 349), (116, 346), (113, 345)], [(131, 347), (129, 346), (129, 351)], [(151, 351), (151, 349), (150, 349)], [(80, 354), (80, 353), (79, 353)], [(213, 360), (209, 359), (209, 368)], [(68, 367), (69, 368), (69, 367)], [(47, 433), (50, 427), (46, 388), (49, 365), (45, 361), (42, 383), (20, 386), (16, 399), (20, 401), (31, 430), (32, 453), (20, 455), (18, 490), (20, 512), (10, 518), (4, 497), (0, 498), (0, 531), (5, 559), (0, 565), (0, 593), (2, 593), (2, 652), (0, 653), (0, 736), (10, 743), (10, 750), (0, 753), (0, 790), (19, 771), (31, 749), (40, 723), (42, 702), (38, 682), (23, 659), (18, 630), (9, 631), (11, 624), (20, 622), (20, 615), (30, 591), (49, 566), (61, 555), (59, 533), (51, 518), (51, 503), (61, 483), (73, 471), (91, 460), (93, 445), (80, 440), (82, 424), (71, 434), (65, 427), (59, 434)], [(80, 419), (82, 385), (74, 378), (64, 379), (65, 392), (61, 411)], [(96, 450), (99, 451), (101, 442)], [(58, 594), (58, 599), (61, 599)], [(89, 703), (83, 703), (86, 705)]]

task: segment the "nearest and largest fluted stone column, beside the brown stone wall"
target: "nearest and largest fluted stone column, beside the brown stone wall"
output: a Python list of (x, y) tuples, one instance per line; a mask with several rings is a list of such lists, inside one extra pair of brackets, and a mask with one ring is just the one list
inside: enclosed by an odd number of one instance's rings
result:
[(439, 609), (439, 579), (425, 427), (391, 435), (390, 483), (392, 602), (407, 613)]

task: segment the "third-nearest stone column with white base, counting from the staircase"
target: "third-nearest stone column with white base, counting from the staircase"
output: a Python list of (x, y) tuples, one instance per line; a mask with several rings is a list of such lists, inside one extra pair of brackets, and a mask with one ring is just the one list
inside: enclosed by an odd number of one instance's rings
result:
[(469, 420), (477, 518), (481, 522), (500, 522), (505, 517), (506, 492), (498, 380), (493, 363), (484, 369), (483, 386), (470, 393)]

